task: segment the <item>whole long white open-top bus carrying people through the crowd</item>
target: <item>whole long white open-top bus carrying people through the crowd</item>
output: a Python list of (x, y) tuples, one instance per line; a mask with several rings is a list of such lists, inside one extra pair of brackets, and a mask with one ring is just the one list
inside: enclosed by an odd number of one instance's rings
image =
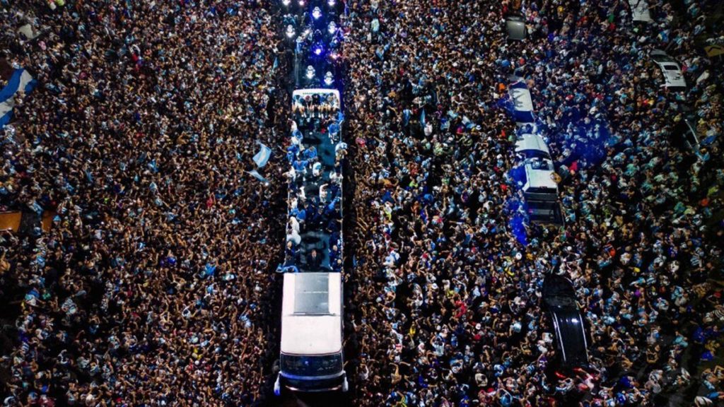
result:
[(347, 391), (342, 360), (342, 173), (337, 165), (346, 145), (340, 130), (340, 92), (294, 91), (291, 119), (295, 146), (288, 150), (290, 223), (274, 393)]

